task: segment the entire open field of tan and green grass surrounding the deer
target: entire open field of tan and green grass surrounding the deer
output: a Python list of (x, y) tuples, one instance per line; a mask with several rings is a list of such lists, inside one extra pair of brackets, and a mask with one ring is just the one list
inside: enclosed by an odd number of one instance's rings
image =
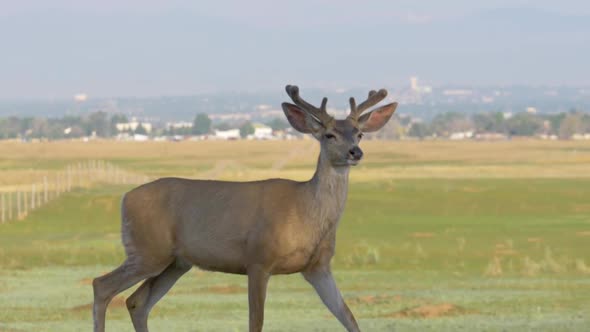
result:
[[(351, 171), (334, 274), (365, 331), (587, 331), (590, 143), (366, 141)], [(0, 191), (84, 160), (149, 178), (312, 176), (302, 141), (0, 142)], [(92, 278), (124, 258), (131, 185), (62, 195), (0, 225), (0, 331), (86, 331)], [(193, 269), (153, 309), (153, 331), (246, 331), (243, 276)], [(132, 331), (115, 298), (107, 330)], [(342, 331), (301, 276), (271, 278), (266, 331)]]

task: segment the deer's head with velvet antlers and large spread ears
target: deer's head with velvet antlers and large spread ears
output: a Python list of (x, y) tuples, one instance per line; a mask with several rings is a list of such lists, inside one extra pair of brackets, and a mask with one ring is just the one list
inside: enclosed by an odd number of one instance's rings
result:
[(287, 120), (297, 131), (311, 134), (320, 142), (322, 153), (333, 167), (357, 165), (363, 157), (363, 151), (358, 146), (363, 133), (381, 129), (397, 107), (397, 103), (391, 103), (362, 114), (387, 96), (384, 89), (373, 90), (358, 106), (351, 97), (350, 114), (344, 120), (336, 120), (326, 112), (327, 98), (322, 100), (320, 107), (316, 107), (301, 98), (297, 86), (287, 85), (285, 89), (294, 103), (282, 104)]

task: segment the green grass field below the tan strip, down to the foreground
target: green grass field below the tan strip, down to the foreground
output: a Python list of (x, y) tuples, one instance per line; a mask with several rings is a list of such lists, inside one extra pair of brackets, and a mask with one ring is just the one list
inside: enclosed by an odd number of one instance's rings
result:
[[(123, 260), (119, 201), (128, 189), (75, 191), (0, 225), (0, 331), (90, 328), (89, 280)], [(585, 331), (588, 197), (590, 179), (355, 182), (335, 275), (368, 331)], [(243, 276), (193, 270), (156, 306), (151, 327), (244, 331), (245, 287)], [(443, 304), (456, 310), (404, 316)], [(132, 330), (120, 302), (107, 328)], [(298, 275), (271, 279), (265, 328), (342, 330)]]

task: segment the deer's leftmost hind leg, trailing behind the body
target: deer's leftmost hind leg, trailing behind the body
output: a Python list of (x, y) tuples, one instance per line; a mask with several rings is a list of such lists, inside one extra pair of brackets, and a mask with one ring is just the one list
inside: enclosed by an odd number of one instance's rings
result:
[(156, 275), (163, 268), (144, 268), (127, 259), (121, 266), (104, 276), (93, 280), (94, 288), (94, 331), (104, 332), (107, 306), (115, 295), (141, 280)]

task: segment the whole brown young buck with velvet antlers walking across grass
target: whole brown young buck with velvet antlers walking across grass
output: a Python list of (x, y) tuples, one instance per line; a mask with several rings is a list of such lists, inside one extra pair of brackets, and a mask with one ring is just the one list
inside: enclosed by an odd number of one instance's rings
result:
[(371, 91), (363, 103), (350, 98), (350, 115), (335, 120), (288, 85), (294, 104), (283, 103), (289, 123), (321, 146), (311, 180), (224, 182), (164, 178), (128, 192), (122, 202), (127, 259), (94, 279), (94, 330), (104, 331), (113, 297), (144, 280), (127, 299), (136, 331), (147, 331), (148, 314), (193, 265), (248, 276), (250, 331), (261, 331), (271, 275), (301, 272), (348, 331), (359, 331), (330, 269), (336, 228), (344, 210), (350, 166), (363, 157), (363, 132), (379, 130), (397, 103), (362, 114), (387, 95)]

